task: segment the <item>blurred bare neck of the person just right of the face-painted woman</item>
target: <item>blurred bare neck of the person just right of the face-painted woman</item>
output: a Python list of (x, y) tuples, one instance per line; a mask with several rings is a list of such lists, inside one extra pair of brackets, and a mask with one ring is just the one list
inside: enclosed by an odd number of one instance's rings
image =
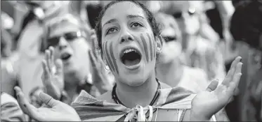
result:
[(157, 64), (157, 78), (160, 81), (169, 84), (171, 87), (177, 86), (182, 75), (183, 65), (179, 59), (173, 59), (173, 61), (169, 63)]

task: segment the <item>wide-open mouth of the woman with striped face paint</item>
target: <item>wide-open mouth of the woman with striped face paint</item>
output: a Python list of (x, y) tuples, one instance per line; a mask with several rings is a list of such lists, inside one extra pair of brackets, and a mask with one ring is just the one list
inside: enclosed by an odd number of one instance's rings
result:
[(120, 59), (126, 66), (136, 66), (141, 61), (141, 54), (138, 49), (130, 47), (122, 50)]

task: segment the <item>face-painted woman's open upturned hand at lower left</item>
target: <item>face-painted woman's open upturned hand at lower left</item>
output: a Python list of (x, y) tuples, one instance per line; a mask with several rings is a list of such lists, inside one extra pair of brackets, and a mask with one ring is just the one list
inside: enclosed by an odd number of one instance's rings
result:
[(18, 86), (15, 86), (15, 92), (22, 112), (36, 121), (81, 121), (70, 105), (55, 100), (46, 93), (40, 93), (39, 97), (47, 106), (36, 108), (26, 100)]

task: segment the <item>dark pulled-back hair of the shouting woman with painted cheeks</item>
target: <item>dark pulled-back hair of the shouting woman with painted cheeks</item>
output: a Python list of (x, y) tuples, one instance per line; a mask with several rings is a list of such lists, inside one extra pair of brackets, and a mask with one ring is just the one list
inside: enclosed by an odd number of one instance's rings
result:
[[(98, 47), (101, 49), (102, 47), (102, 40), (101, 40), (101, 37), (102, 37), (102, 25), (101, 25), (101, 20), (102, 20), (102, 17), (104, 16), (105, 14), (105, 11), (107, 10), (107, 8), (109, 8), (110, 6), (114, 5), (115, 3), (119, 3), (119, 2), (122, 2), (123, 0), (121, 1), (111, 1), (110, 3), (108, 3), (104, 8), (103, 10), (101, 11), (99, 17), (98, 17), (98, 21), (96, 23), (96, 34), (97, 34), (97, 37), (98, 37)], [(155, 20), (155, 17), (154, 15), (150, 12), (150, 10), (148, 10), (148, 8), (143, 5), (143, 3), (140, 3), (138, 1), (131, 1), (132, 3), (135, 3), (137, 6), (139, 6), (140, 8), (142, 8), (145, 12), (145, 15), (147, 16), (147, 19), (148, 19), (148, 22), (150, 24), (150, 26), (152, 27), (152, 31), (154, 33), (154, 36), (159, 36), (160, 35), (160, 29), (159, 29), (159, 24), (157, 24), (157, 21)], [(101, 52), (102, 49), (101, 49)]]

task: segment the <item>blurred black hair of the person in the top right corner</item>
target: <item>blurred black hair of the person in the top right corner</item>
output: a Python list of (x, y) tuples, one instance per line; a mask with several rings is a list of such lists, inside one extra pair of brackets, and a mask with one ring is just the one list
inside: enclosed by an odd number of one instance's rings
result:
[(262, 35), (262, 3), (249, 1), (236, 6), (230, 22), (230, 32), (235, 40), (259, 48)]

